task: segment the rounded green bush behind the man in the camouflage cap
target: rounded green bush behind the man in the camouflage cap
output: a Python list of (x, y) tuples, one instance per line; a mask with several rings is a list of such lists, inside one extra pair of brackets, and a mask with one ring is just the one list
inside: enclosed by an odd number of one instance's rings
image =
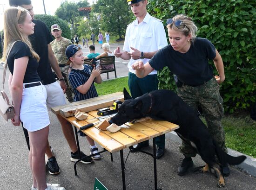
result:
[(58, 24), (62, 30), (62, 37), (68, 38), (68, 39), (71, 38), (71, 32), (68, 27), (67, 21), (62, 20), (56, 16), (51, 16), (47, 14), (36, 14), (34, 15), (34, 19), (43, 21), (47, 25), (50, 31), (51, 31), (51, 25)]

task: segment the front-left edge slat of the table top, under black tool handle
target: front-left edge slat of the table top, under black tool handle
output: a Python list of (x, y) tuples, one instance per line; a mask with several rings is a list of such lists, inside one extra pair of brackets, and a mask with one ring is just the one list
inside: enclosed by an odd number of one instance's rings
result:
[[(78, 130), (80, 127), (88, 124), (88, 122), (85, 120), (76, 120), (75, 117), (68, 117), (66, 119), (75, 127), (77, 127)], [(82, 132), (97, 141), (97, 143), (106, 148), (108, 152), (116, 152), (125, 148), (121, 143), (111, 138), (107, 134), (102, 133), (101, 130), (96, 127), (90, 127), (88, 129), (82, 130)]]

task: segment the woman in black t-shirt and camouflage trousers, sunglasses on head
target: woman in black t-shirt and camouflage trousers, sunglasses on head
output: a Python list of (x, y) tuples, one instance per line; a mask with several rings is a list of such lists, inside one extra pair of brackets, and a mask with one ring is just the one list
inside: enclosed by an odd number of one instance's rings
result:
[[(186, 15), (180, 14), (168, 19), (167, 28), (170, 44), (159, 50), (148, 63), (134, 63), (132, 67), (136, 70), (136, 76), (142, 78), (152, 70), (168, 66), (175, 74), (178, 95), (195, 112), (198, 107), (202, 108), (209, 132), (227, 152), (221, 125), (222, 97), (219, 93), (219, 84), (225, 80), (222, 57), (208, 39), (196, 38), (197, 27)], [(208, 60), (213, 60), (219, 76), (214, 76)], [(182, 140), (180, 152), (185, 157), (178, 168), (178, 175), (182, 176), (193, 166), (191, 157), (195, 157), (196, 151)], [(229, 175), (228, 166), (222, 170), (225, 176)]]

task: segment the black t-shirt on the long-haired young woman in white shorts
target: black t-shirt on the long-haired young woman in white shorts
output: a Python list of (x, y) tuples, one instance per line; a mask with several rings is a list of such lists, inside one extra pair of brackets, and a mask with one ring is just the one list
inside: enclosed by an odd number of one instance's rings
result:
[(28, 57), (27, 69), (25, 72), (23, 83), (41, 81), (36, 71), (39, 63), (34, 57), (32, 57), (32, 54), (28, 45), (22, 41), (17, 41), (13, 45), (13, 48), (10, 51), (10, 54), (7, 59), (7, 64), (12, 75), (13, 75), (14, 59), (18, 59), (20, 57)]

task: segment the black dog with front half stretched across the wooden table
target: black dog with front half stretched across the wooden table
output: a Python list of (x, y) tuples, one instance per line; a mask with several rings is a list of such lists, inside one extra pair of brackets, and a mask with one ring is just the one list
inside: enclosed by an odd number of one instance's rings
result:
[(206, 163), (202, 172), (213, 168), (219, 178), (218, 186), (224, 187), (222, 166), (229, 163), (238, 165), (245, 156), (233, 157), (222, 151), (216, 140), (209, 134), (207, 127), (182, 99), (171, 90), (155, 90), (136, 99), (124, 89), (124, 102), (118, 113), (109, 123), (122, 125), (128, 121), (145, 119), (167, 120), (180, 126), (175, 132), (189, 143)]

